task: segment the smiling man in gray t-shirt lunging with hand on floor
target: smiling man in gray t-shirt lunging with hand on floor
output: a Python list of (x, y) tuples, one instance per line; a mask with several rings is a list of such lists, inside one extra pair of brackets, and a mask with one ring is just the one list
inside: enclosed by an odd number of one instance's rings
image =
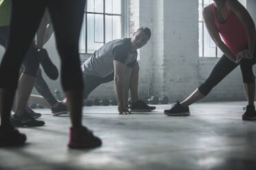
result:
[[(137, 49), (147, 44), (151, 31), (140, 27), (131, 38), (123, 38), (107, 42), (103, 47), (82, 64), (84, 81), (84, 99), (100, 84), (114, 80), (118, 112), (131, 114), (131, 111), (151, 111), (156, 109), (147, 106), (138, 99)], [(128, 92), (131, 92), (131, 104), (128, 108)]]

